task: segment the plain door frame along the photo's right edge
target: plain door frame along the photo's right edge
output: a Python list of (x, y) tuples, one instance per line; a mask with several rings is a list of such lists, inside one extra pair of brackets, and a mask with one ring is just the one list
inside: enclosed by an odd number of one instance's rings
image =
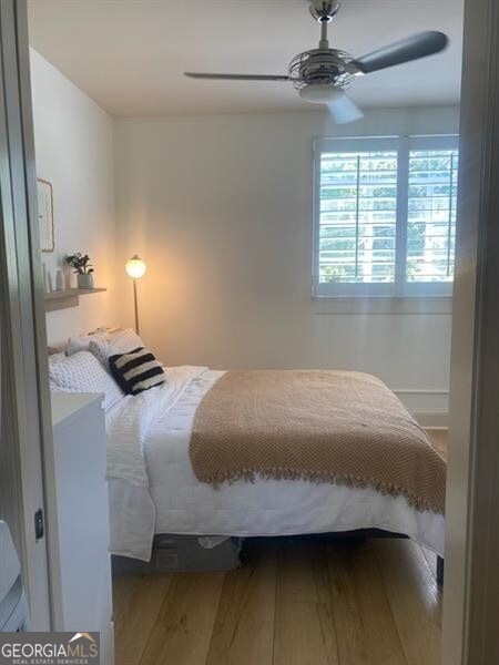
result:
[(445, 665), (499, 663), (499, 6), (465, 1)]

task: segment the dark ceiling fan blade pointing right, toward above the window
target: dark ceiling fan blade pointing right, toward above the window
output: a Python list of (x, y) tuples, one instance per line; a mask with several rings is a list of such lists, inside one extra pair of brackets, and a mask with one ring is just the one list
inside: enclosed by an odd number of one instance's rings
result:
[(448, 41), (444, 32), (419, 32), (384, 49), (363, 55), (354, 60), (353, 64), (363, 74), (369, 74), (387, 66), (403, 64), (404, 62), (410, 62), (411, 60), (418, 60), (418, 58), (438, 53), (446, 48)]

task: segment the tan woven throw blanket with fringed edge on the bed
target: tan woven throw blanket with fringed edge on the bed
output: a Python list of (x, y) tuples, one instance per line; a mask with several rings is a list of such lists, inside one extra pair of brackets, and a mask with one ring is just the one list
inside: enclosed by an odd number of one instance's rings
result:
[(370, 487), (444, 513), (446, 463), (379, 379), (347, 371), (228, 371), (197, 408), (202, 482), (264, 479)]

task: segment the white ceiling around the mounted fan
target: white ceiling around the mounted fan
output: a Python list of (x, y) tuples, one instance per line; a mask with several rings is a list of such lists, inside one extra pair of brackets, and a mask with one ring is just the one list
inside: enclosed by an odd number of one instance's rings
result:
[[(420, 30), (441, 30), (441, 54), (354, 82), (361, 108), (459, 101), (462, 0), (343, 0), (332, 45), (361, 55)], [(289, 83), (205, 82), (183, 71), (287, 73), (316, 48), (306, 0), (30, 0), (30, 41), (109, 113), (299, 110)]]

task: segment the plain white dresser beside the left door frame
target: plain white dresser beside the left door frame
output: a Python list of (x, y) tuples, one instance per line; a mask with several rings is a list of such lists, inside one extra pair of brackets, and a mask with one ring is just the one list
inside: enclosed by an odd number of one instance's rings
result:
[[(114, 663), (105, 421), (102, 396), (52, 393), (57, 534), (49, 548), (54, 631), (101, 634)], [(50, 529), (50, 525), (49, 525)]]

